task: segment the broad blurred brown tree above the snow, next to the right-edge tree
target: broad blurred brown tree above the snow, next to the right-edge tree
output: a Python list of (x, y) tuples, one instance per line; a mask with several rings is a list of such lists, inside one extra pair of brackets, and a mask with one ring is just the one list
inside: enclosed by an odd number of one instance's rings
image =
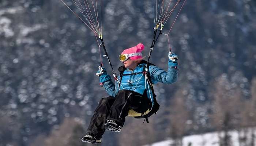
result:
[[(219, 131), (220, 146), (231, 146), (229, 130), (239, 127), (239, 115), (242, 107), (242, 93), (240, 88), (231, 88), (226, 74), (217, 78), (212, 90), (214, 106), (212, 125)], [(224, 132), (224, 135), (221, 134)]]

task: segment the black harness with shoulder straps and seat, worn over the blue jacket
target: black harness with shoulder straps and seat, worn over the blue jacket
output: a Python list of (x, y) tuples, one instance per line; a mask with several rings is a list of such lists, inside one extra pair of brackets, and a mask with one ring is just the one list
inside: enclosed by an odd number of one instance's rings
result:
[[(139, 64), (147, 64), (147, 62), (145, 60), (142, 60)], [(146, 70), (146, 66), (147, 66), (147, 69), (149, 70), (149, 66), (151, 66), (151, 65), (155, 66), (154, 64), (151, 64), (151, 63), (148, 62), (148, 65), (145, 65), (143, 70)], [(118, 68), (118, 70), (120, 72), (120, 83), (122, 81), (123, 76), (129, 76), (129, 75), (134, 75), (134, 74), (145, 74), (145, 77), (147, 77), (147, 78), (145, 78), (145, 80), (148, 81), (148, 83), (150, 85), (150, 89), (151, 89), (152, 94), (153, 94), (153, 99), (151, 99), (151, 103), (150, 103), (151, 110), (145, 115), (134, 116), (134, 118), (138, 118), (138, 119), (145, 118), (146, 122), (148, 123), (148, 117), (150, 117), (154, 113), (157, 114), (157, 111), (159, 110), (159, 107), (160, 107), (160, 105), (157, 103), (157, 99), (156, 99), (157, 95), (155, 95), (155, 93), (154, 93), (153, 83), (152, 83), (152, 79), (151, 79), (149, 71), (148, 72), (143, 71), (143, 72), (138, 72), (138, 73), (124, 74), (124, 71), (126, 70), (126, 68), (124, 66), (120, 66)], [(119, 84), (119, 87), (120, 87), (120, 85), (121, 84)], [(147, 98), (147, 90), (146, 89), (143, 93), (143, 97)], [(134, 110), (134, 111), (140, 113), (140, 111), (136, 111), (136, 110)]]

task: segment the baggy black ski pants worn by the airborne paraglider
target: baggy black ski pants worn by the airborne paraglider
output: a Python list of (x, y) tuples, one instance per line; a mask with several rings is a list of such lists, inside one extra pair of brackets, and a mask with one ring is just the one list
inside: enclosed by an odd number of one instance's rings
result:
[(107, 119), (123, 126), (130, 109), (146, 112), (151, 108), (151, 101), (143, 95), (131, 90), (120, 90), (116, 97), (102, 98), (94, 111), (87, 132), (101, 137), (105, 132), (103, 125)]

